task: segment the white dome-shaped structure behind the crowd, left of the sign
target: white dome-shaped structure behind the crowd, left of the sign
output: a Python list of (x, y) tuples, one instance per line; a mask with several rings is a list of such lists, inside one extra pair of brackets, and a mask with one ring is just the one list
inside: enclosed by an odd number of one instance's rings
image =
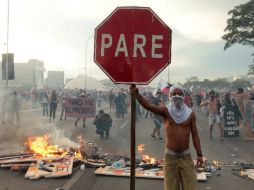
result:
[(75, 79), (68, 82), (64, 89), (85, 89), (86, 90), (97, 90), (97, 91), (107, 91), (107, 88), (98, 80), (92, 77), (85, 77), (80, 75)]

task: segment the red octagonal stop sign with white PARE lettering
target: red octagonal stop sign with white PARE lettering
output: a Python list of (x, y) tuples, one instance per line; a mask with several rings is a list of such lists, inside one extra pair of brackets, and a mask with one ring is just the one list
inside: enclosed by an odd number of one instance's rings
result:
[(94, 43), (94, 61), (114, 83), (148, 84), (171, 59), (171, 29), (148, 7), (116, 8)]

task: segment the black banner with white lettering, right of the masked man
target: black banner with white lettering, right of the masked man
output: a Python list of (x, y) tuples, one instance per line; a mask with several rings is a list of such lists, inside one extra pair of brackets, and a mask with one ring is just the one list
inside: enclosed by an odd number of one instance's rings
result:
[(224, 110), (224, 137), (239, 137), (239, 112), (236, 106), (226, 106)]

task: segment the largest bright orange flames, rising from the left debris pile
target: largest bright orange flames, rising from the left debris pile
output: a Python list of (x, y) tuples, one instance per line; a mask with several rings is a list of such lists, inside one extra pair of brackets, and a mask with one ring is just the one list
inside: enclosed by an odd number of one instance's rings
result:
[(55, 155), (64, 156), (67, 151), (59, 148), (58, 145), (49, 144), (50, 135), (28, 137), (25, 142), (29, 151), (43, 157), (53, 157)]

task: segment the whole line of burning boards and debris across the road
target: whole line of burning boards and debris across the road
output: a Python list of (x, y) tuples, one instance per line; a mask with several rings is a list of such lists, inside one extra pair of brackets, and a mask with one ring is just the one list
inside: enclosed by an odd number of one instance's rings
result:
[[(78, 138), (78, 147), (68, 149), (51, 145), (50, 135), (35, 136), (27, 138), (25, 142), (25, 153), (16, 155), (0, 156), (0, 167), (10, 168), (12, 171), (24, 170), (25, 178), (39, 179), (41, 177), (64, 177), (70, 176), (73, 167), (96, 168), (95, 174), (112, 176), (130, 176), (130, 158), (125, 156), (109, 155), (99, 151), (96, 144), (85, 142)], [(163, 179), (163, 160), (156, 159), (144, 153), (145, 145), (139, 144), (137, 147), (135, 173), (136, 177)], [(194, 165), (196, 165), (196, 161)], [(222, 167), (236, 167), (239, 164), (223, 164), (219, 161), (205, 164), (201, 168), (196, 167), (198, 181), (206, 181), (212, 173), (222, 169)], [(244, 165), (233, 172), (238, 176), (248, 176), (253, 179), (253, 165)], [(245, 170), (243, 170), (245, 169)], [(232, 169), (233, 170), (233, 169)], [(217, 173), (218, 174), (218, 173)]]

